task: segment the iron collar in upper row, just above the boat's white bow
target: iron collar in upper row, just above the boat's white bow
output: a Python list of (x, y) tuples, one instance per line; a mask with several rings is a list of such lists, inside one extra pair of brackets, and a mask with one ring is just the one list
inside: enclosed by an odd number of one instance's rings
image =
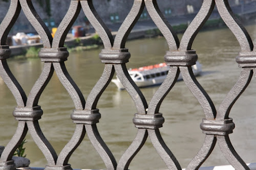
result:
[(102, 63), (108, 64), (123, 64), (129, 62), (131, 54), (128, 52), (127, 48), (122, 48), (120, 50), (101, 50), (99, 58)]

